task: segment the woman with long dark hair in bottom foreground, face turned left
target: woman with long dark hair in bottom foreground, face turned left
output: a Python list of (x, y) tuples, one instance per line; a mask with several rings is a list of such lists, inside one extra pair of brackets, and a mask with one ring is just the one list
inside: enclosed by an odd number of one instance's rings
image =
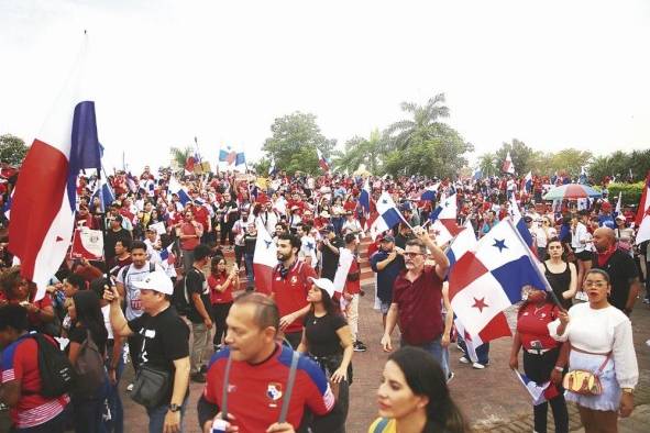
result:
[(368, 433), (469, 431), (451, 399), (442, 368), (419, 347), (406, 346), (388, 357), (377, 398), (379, 418)]

